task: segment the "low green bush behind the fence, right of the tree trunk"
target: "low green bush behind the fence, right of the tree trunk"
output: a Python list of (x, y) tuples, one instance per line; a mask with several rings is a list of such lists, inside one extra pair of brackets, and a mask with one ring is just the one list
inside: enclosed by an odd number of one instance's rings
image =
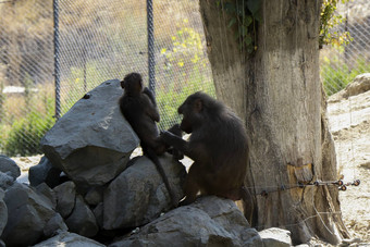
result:
[(341, 62), (338, 57), (324, 57), (321, 62), (321, 81), (323, 83), (328, 96), (345, 88), (354, 78), (362, 73), (370, 71), (370, 64), (366, 62), (365, 58), (359, 58), (351, 64), (350, 69), (346, 63)]

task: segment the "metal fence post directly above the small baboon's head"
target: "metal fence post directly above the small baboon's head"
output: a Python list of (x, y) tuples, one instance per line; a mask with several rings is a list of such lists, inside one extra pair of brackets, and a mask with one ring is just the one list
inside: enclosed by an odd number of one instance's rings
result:
[(156, 95), (155, 23), (152, 0), (147, 0), (149, 89)]

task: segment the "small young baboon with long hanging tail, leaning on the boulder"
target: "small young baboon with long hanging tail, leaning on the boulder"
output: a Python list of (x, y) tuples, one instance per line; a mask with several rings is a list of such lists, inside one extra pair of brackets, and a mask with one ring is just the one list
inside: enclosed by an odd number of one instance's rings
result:
[[(144, 88), (141, 75), (138, 73), (127, 74), (121, 82), (121, 87), (124, 89), (124, 94), (120, 98), (121, 112), (140, 139), (144, 156), (156, 164), (169, 190), (172, 205), (176, 207), (178, 201), (158, 159), (159, 155), (165, 152), (168, 146), (159, 139), (156, 122), (160, 121), (160, 115), (156, 98), (147, 87)], [(178, 125), (173, 126), (169, 132), (182, 135)]]

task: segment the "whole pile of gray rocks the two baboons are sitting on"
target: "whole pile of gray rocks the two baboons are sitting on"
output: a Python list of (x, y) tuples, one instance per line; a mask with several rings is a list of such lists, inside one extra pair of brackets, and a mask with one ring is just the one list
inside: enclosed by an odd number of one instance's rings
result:
[[(0, 156), (0, 246), (291, 246), (286, 231), (251, 229), (231, 200), (172, 209), (155, 164), (131, 159), (139, 140), (120, 113), (121, 95), (119, 81), (108, 81), (76, 102), (41, 140), (29, 185)], [(160, 161), (181, 199), (184, 165), (170, 155)]]

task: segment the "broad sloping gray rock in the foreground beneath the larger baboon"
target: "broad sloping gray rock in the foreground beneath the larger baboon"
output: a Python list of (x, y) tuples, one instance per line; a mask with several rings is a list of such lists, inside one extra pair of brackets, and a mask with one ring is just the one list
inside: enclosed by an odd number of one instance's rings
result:
[[(258, 232), (249, 227), (232, 200), (202, 197), (165, 213), (110, 247), (251, 246), (245, 243), (254, 237), (258, 238)], [(255, 244), (263, 247), (261, 240)]]

